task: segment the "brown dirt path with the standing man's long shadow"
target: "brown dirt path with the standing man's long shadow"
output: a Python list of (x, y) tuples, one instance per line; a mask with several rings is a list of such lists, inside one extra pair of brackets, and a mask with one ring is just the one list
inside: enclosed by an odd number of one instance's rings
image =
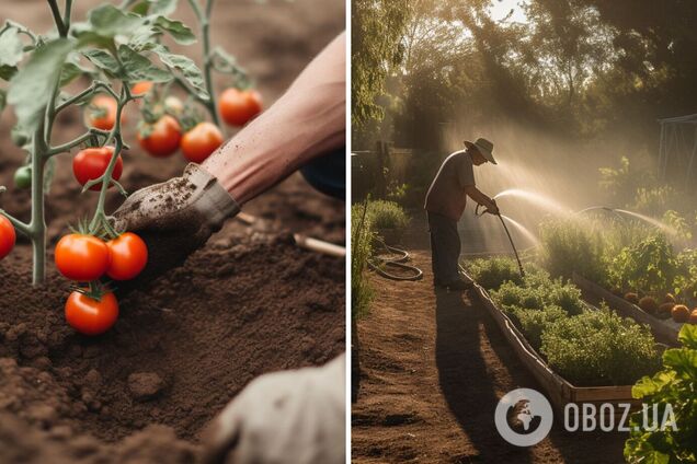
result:
[(542, 391), (495, 322), (467, 292), (434, 291), (429, 252), (414, 252), (425, 278), (373, 277), (376, 300), (358, 326), (362, 382), (352, 411), (355, 463), (621, 463), (626, 437), (552, 432), (530, 449), (505, 442), (493, 424), (499, 398)]

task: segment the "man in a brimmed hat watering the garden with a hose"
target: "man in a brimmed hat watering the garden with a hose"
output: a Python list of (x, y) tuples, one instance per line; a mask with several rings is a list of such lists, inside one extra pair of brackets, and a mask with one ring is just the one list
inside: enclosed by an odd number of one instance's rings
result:
[(449, 290), (466, 290), (471, 287), (471, 282), (462, 280), (458, 272), (460, 236), (457, 233), (457, 222), (465, 211), (467, 197), (483, 205), (492, 214), (499, 213), (496, 202), (475, 185), (473, 166), (485, 162), (496, 164), (492, 154), (493, 143), (487, 139), (477, 139), (475, 143), (465, 141), (465, 150), (456, 151), (441, 164), (426, 194), (424, 206), (431, 232), (433, 285)]

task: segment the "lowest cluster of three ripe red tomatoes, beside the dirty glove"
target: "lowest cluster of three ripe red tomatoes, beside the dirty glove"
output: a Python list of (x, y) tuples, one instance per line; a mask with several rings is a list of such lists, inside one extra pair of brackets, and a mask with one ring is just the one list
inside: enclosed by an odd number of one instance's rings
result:
[[(79, 283), (96, 282), (103, 276), (113, 280), (130, 280), (148, 263), (148, 247), (133, 232), (106, 242), (94, 235), (71, 233), (56, 244), (55, 259), (60, 274)], [(116, 297), (99, 283), (90, 285), (90, 291), (73, 291), (66, 302), (66, 321), (81, 334), (103, 334), (117, 317)]]

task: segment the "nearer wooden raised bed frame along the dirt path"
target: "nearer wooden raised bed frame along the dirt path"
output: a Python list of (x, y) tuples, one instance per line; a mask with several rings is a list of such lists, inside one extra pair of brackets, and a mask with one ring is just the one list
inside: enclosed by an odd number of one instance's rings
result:
[(541, 356), (530, 346), (513, 321), (494, 303), (487, 290), (475, 283), (472, 291), (481, 299), (484, 308), (494, 318), (504, 337), (517, 355), (518, 359), (530, 371), (537, 382), (545, 388), (558, 411), (563, 411), (570, 403), (631, 404), (632, 409), (640, 402), (631, 397), (631, 385), (617, 386), (574, 386), (551, 370)]

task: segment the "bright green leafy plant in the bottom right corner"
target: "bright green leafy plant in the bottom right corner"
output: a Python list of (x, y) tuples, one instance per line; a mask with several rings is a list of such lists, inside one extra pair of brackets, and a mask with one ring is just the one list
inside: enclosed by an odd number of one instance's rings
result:
[(697, 462), (697, 325), (683, 325), (679, 339), (682, 348), (663, 353), (663, 370), (642, 378), (632, 388), (632, 396), (644, 405), (658, 405), (660, 419), (670, 405), (676, 430), (645, 430), (641, 411), (635, 413), (630, 438), (625, 443), (628, 463)]

